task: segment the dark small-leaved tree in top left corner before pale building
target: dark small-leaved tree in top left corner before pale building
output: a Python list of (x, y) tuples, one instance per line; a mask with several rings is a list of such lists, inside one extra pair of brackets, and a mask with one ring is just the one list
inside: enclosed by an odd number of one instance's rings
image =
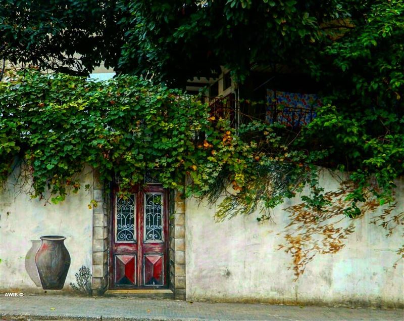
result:
[(14, 64), (88, 75), (116, 67), (123, 37), (110, 1), (0, 0), (0, 57)]

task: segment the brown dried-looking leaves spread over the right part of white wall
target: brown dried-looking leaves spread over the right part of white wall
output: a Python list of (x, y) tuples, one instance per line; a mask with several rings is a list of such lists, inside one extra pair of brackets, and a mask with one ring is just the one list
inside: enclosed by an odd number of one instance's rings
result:
[[(322, 211), (307, 208), (305, 203), (285, 209), (289, 213), (290, 223), (279, 233), (284, 237), (285, 244), (280, 244), (278, 249), (291, 254), (292, 265), (289, 268), (294, 271), (295, 281), (304, 273), (307, 264), (316, 254), (337, 253), (345, 246), (344, 241), (348, 236), (355, 232), (355, 219), (349, 220), (343, 212), (349, 206), (346, 196), (354, 189), (355, 186), (350, 182), (342, 182), (337, 191), (325, 194), (331, 205)], [(371, 223), (378, 223), (388, 231), (387, 237), (392, 235), (398, 225), (404, 224), (404, 212), (391, 217), (395, 206), (396, 204), (388, 206), (381, 215), (371, 220)], [(378, 202), (375, 199), (361, 204), (362, 214), (356, 219), (374, 212), (377, 207)], [(404, 258), (404, 245), (397, 250), (397, 254)]]

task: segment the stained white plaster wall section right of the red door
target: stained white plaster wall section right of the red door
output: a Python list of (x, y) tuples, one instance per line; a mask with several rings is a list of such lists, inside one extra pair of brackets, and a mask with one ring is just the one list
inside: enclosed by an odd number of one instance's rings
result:
[[(338, 183), (323, 173), (323, 186)], [(397, 182), (395, 213), (404, 210), (404, 181)], [(186, 297), (188, 300), (261, 301), (284, 304), (404, 305), (403, 226), (386, 238), (370, 224), (371, 215), (355, 219), (356, 232), (336, 254), (318, 254), (294, 282), (291, 256), (278, 250), (278, 233), (290, 222), (283, 209), (300, 203), (287, 200), (272, 213), (273, 222), (258, 223), (258, 213), (215, 223), (215, 208), (186, 200)], [(348, 226), (352, 220), (344, 219)], [(305, 249), (305, 248), (304, 248)]]

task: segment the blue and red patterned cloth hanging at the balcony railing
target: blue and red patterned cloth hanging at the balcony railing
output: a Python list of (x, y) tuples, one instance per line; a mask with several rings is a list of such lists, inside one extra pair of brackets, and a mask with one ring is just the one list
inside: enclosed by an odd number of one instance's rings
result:
[(322, 106), (314, 94), (287, 93), (267, 89), (266, 121), (275, 121), (288, 127), (307, 125), (317, 116), (316, 109)]

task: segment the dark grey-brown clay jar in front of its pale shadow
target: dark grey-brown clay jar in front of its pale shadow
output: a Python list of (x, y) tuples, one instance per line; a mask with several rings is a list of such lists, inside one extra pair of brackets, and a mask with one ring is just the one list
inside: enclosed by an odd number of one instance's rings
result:
[(63, 243), (64, 236), (40, 237), (42, 244), (35, 256), (39, 278), (44, 290), (61, 290), (70, 267), (70, 255)]

